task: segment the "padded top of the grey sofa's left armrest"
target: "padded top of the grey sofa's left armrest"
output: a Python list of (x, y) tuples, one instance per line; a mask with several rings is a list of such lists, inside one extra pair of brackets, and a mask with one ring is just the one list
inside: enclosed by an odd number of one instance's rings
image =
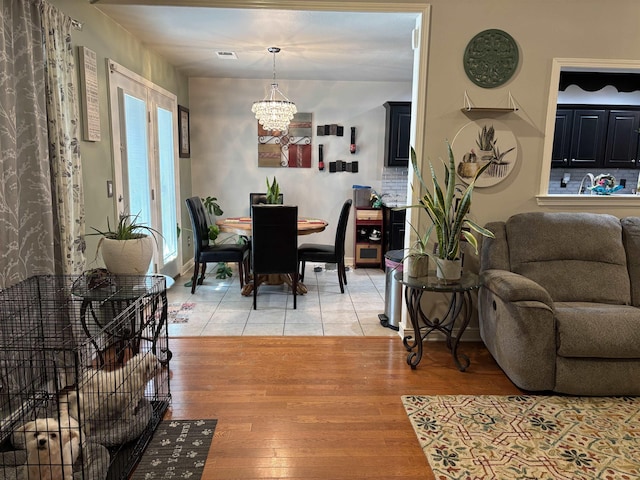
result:
[(485, 270), (480, 275), (482, 286), (504, 302), (542, 302), (553, 309), (549, 292), (533, 280), (506, 270)]

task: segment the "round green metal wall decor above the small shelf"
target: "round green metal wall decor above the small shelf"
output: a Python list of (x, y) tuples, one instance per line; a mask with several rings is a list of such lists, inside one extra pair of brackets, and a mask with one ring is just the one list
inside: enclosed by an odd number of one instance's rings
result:
[(467, 77), (483, 88), (499, 87), (518, 67), (518, 45), (507, 32), (491, 29), (478, 33), (464, 51)]

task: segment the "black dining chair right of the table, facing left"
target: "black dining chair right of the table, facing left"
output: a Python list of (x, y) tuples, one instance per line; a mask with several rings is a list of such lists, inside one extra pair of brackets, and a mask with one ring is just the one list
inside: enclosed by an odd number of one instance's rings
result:
[(338, 227), (336, 228), (336, 240), (333, 245), (303, 243), (298, 247), (301, 282), (304, 282), (304, 269), (307, 262), (337, 263), (340, 292), (344, 293), (344, 286), (347, 284), (347, 270), (344, 264), (344, 240), (347, 234), (347, 223), (352, 203), (353, 201), (348, 199), (342, 205)]

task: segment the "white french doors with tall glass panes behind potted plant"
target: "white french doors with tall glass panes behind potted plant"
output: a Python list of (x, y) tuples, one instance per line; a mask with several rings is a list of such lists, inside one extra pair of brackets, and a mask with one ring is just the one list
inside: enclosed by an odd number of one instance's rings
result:
[[(115, 68), (114, 68), (115, 66)], [(175, 95), (110, 61), (117, 211), (160, 233), (150, 270), (179, 273), (178, 148)]]

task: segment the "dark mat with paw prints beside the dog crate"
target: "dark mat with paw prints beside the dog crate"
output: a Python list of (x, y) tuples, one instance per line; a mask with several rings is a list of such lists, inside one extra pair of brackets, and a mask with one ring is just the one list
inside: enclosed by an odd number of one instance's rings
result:
[(217, 420), (163, 420), (130, 480), (202, 477)]

